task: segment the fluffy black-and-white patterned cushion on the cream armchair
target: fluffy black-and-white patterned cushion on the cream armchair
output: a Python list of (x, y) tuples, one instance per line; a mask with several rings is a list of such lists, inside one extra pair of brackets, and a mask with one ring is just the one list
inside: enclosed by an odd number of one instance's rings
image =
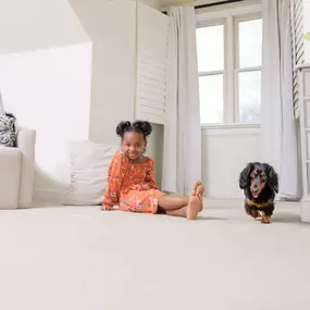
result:
[(16, 147), (15, 116), (9, 113), (0, 115), (0, 145)]

